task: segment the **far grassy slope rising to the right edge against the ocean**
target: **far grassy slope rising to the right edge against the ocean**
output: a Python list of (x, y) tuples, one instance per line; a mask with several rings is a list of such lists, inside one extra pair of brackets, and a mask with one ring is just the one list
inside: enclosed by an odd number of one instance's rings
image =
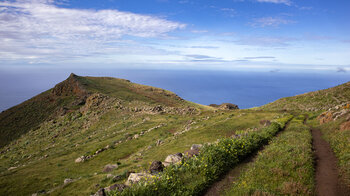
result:
[(320, 111), (348, 102), (350, 102), (350, 82), (324, 90), (285, 97), (261, 106), (260, 109)]

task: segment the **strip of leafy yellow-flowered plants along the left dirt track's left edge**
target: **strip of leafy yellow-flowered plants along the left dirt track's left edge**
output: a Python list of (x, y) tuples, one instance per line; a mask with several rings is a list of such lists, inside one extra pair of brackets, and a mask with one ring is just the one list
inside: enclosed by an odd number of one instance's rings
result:
[(222, 139), (218, 144), (206, 145), (199, 156), (184, 159), (158, 176), (109, 195), (199, 195), (222, 174), (266, 144), (291, 118), (291, 115), (280, 118), (261, 131), (238, 139)]

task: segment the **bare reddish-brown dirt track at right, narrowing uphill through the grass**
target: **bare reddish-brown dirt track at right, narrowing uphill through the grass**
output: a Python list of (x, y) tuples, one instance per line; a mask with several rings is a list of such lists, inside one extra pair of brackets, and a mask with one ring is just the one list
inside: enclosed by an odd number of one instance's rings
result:
[(330, 145), (321, 136), (319, 129), (311, 128), (316, 158), (316, 195), (349, 196), (338, 177), (337, 158)]

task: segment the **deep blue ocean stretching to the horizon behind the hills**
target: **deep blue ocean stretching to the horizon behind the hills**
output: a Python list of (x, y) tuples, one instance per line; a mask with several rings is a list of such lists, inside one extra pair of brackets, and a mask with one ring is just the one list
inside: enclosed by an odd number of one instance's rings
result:
[(17, 105), (69, 76), (111, 76), (164, 88), (208, 105), (230, 102), (240, 108), (261, 106), (282, 97), (350, 81), (349, 73), (283, 73), (179, 70), (74, 70), (0, 73), (0, 111)]

